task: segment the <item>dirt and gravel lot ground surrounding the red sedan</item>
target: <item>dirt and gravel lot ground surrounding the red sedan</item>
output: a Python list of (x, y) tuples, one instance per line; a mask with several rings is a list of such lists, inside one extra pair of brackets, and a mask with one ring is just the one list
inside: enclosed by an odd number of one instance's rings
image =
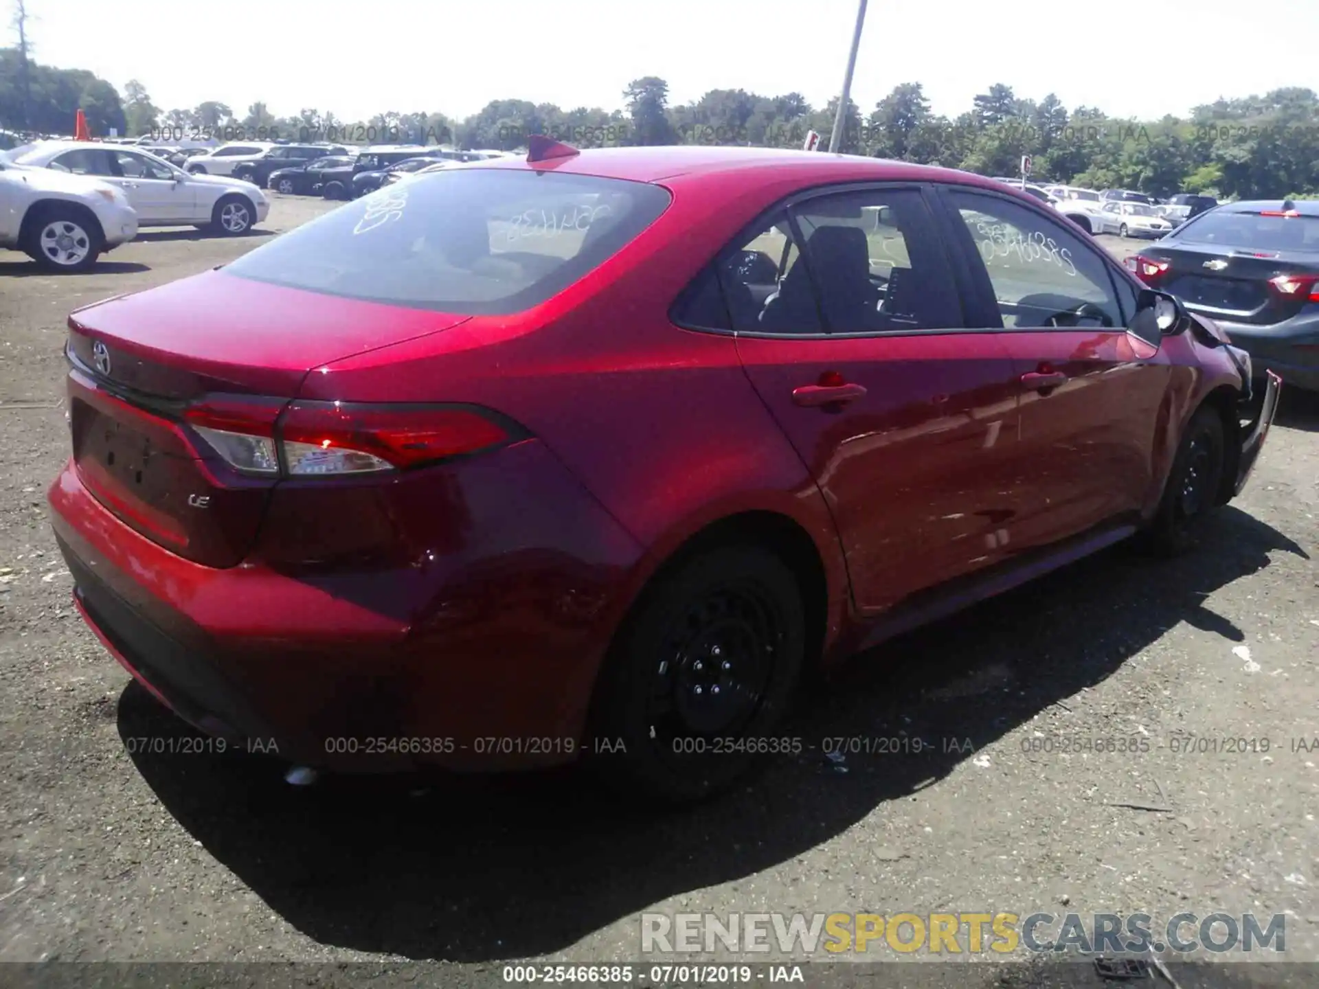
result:
[[(1119, 549), (861, 658), (803, 704), (801, 756), (708, 806), (628, 810), (572, 773), (293, 789), (257, 756), (129, 756), (125, 738), (190, 731), (70, 604), (45, 502), (69, 446), (65, 318), (326, 206), (277, 198), (239, 240), (146, 232), (78, 277), (0, 252), (0, 961), (634, 960), (644, 910), (1279, 913), (1287, 956), (1319, 960), (1319, 752), (1304, 750), (1319, 745), (1319, 404), (1304, 396), (1199, 550)], [(1174, 752), (1186, 734), (1212, 746)], [(836, 764), (830, 737), (931, 750)], [(1062, 753), (1064, 737), (1149, 746)], [(1099, 984), (1086, 967), (919, 968), (901, 984)]]

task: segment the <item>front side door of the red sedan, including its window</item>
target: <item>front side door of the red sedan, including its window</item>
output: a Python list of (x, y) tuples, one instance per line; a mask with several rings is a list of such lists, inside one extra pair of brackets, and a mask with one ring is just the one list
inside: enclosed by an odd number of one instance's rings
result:
[[(1017, 550), (1132, 517), (1154, 483), (1155, 431), (1171, 367), (1159, 339), (1128, 324), (1137, 289), (1092, 243), (1042, 210), (948, 186), (979, 291), (972, 326), (1009, 349), (1021, 396)], [(1145, 331), (1148, 332), (1148, 331)]]

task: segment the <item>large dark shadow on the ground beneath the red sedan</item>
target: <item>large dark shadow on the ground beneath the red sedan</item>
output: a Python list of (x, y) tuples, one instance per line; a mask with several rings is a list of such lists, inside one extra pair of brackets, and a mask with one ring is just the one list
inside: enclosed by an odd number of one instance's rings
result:
[[(571, 770), (294, 789), (278, 762), (256, 756), (133, 760), (211, 854), (317, 942), (414, 959), (533, 956), (809, 852), (946, 777), (972, 757), (964, 740), (980, 749), (1001, 738), (1178, 622), (1242, 640), (1206, 597), (1277, 553), (1306, 556), (1227, 508), (1181, 559), (1117, 547), (871, 650), (813, 691), (783, 729), (803, 740), (801, 754), (685, 810), (623, 804)], [(119, 731), (190, 733), (136, 686), (120, 699)], [(848, 756), (845, 773), (822, 750), (826, 737), (902, 732), (930, 748)]]

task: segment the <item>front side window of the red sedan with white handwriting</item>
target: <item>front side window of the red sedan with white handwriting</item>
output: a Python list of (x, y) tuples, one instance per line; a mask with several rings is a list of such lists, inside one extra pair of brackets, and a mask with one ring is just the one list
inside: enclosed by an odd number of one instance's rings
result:
[(997, 196), (958, 190), (950, 199), (1005, 327), (1124, 326), (1104, 261), (1060, 223)]

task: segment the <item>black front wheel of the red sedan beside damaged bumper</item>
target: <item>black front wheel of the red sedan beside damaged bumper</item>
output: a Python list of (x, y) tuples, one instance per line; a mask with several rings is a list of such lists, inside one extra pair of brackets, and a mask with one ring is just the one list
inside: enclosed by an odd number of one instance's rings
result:
[(1146, 543), (1155, 554), (1175, 556), (1199, 542), (1204, 518), (1217, 506), (1225, 454), (1223, 418), (1215, 409), (1200, 407), (1182, 435), (1163, 498), (1146, 533)]

